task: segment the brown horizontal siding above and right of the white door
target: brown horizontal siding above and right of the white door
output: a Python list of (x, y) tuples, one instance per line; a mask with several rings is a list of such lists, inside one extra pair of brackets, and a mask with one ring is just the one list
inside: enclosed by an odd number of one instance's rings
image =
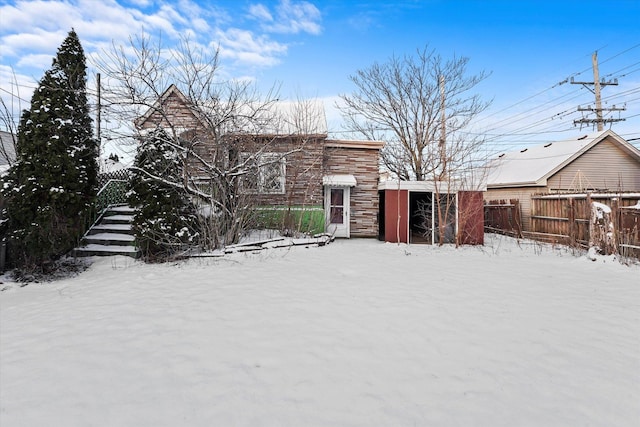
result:
[(378, 235), (378, 161), (380, 143), (332, 141), (325, 143), (325, 175), (353, 175), (351, 190), (351, 235)]

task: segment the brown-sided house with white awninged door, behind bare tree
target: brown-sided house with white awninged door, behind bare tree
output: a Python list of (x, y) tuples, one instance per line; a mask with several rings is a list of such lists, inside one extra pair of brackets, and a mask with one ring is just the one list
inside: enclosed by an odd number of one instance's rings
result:
[(250, 157), (256, 163), (255, 172), (246, 175), (243, 188), (252, 193), (257, 209), (298, 211), (306, 219), (297, 218), (305, 221), (319, 217), (320, 227), (336, 237), (378, 235), (382, 142), (329, 139), (324, 109), (313, 102), (305, 103), (304, 111), (282, 101), (259, 109), (239, 105), (233, 123), (211, 125), (217, 116), (200, 112), (219, 106), (212, 100), (210, 105), (192, 108), (171, 85), (135, 125), (142, 134), (170, 128), (192, 144), (192, 176), (203, 185), (207, 176), (198, 176), (199, 161), (229, 164)]

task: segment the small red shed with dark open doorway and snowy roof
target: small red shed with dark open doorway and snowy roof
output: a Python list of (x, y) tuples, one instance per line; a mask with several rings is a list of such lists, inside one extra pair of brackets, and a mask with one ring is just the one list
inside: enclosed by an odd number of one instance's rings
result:
[(378, 185), (378, 193), (380, 240), (484, 244), (481, 190), (434, 181), (390, 180)]

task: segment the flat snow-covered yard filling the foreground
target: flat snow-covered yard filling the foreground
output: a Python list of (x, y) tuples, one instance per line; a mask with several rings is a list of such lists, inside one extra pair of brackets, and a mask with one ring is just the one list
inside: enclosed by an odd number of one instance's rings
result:
[(0, 292), (0, 425), (637, 426), (640, 268), (488, 237)]

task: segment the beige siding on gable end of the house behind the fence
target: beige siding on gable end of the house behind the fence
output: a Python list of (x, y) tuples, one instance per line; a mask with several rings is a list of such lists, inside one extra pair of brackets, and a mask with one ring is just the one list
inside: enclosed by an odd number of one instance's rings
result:
[(640, 164), (609, 138), (587, 150), (547, 180), (548, 191), (640, 189)]

